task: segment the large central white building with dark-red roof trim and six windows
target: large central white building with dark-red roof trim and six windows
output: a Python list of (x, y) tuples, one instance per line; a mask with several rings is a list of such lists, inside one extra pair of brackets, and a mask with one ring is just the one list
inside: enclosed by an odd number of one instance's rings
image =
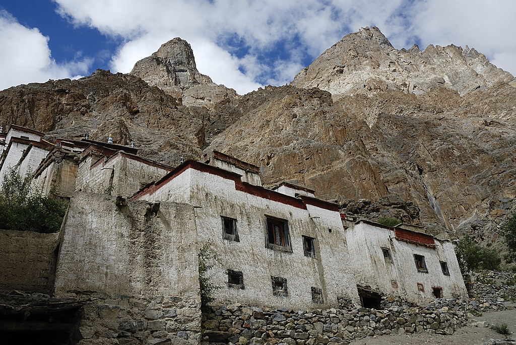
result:
[(222, 287), (215, 292), (220, 302), (292, 308), (358, 302), (338, 206), (293, 185), (288, 194), (263, 188), (257, 170), (215, 152), (209, 165), (186, 161), (133, 199), (196, 207), (199, 247), (215, 253), (211, 273)]

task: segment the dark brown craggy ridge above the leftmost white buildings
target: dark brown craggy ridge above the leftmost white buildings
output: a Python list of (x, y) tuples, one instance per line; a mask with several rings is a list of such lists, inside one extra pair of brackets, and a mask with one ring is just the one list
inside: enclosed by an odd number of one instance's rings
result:
[(46, 138), (136, 143), (144, 157), (165, 163), (181, 156), (200, 157), (204, 124), (199, 109), (178, 107), (179, 100), (140, 78), (97, 70), (78, 80), (51, 80), (0, 92), (0, 122), (47, 133)]

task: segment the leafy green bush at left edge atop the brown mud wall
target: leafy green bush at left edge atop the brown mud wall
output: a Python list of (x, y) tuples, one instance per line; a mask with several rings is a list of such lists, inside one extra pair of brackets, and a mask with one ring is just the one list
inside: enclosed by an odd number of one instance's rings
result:
[(11, 170), (0, 191), (0, 228), (56, 233), (65, 217), (67, 203), (31, 192), (30, 177)]

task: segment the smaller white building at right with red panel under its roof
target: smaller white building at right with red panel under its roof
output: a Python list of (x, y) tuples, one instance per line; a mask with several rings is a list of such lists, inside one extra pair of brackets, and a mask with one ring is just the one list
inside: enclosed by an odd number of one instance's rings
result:
[(467, 297), (449, 240), (407, 224), (389, 227), (367, 220), (343, 223), (351, 265), (365, 304), (377, 302), (375, 292), (400, 295), (414, 302)]

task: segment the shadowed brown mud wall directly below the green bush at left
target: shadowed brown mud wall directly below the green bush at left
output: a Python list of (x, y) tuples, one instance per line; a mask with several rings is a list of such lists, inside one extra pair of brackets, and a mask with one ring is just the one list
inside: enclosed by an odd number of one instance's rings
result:
[(59, 234), (0, 230), (0, 290), (52, 290)]

